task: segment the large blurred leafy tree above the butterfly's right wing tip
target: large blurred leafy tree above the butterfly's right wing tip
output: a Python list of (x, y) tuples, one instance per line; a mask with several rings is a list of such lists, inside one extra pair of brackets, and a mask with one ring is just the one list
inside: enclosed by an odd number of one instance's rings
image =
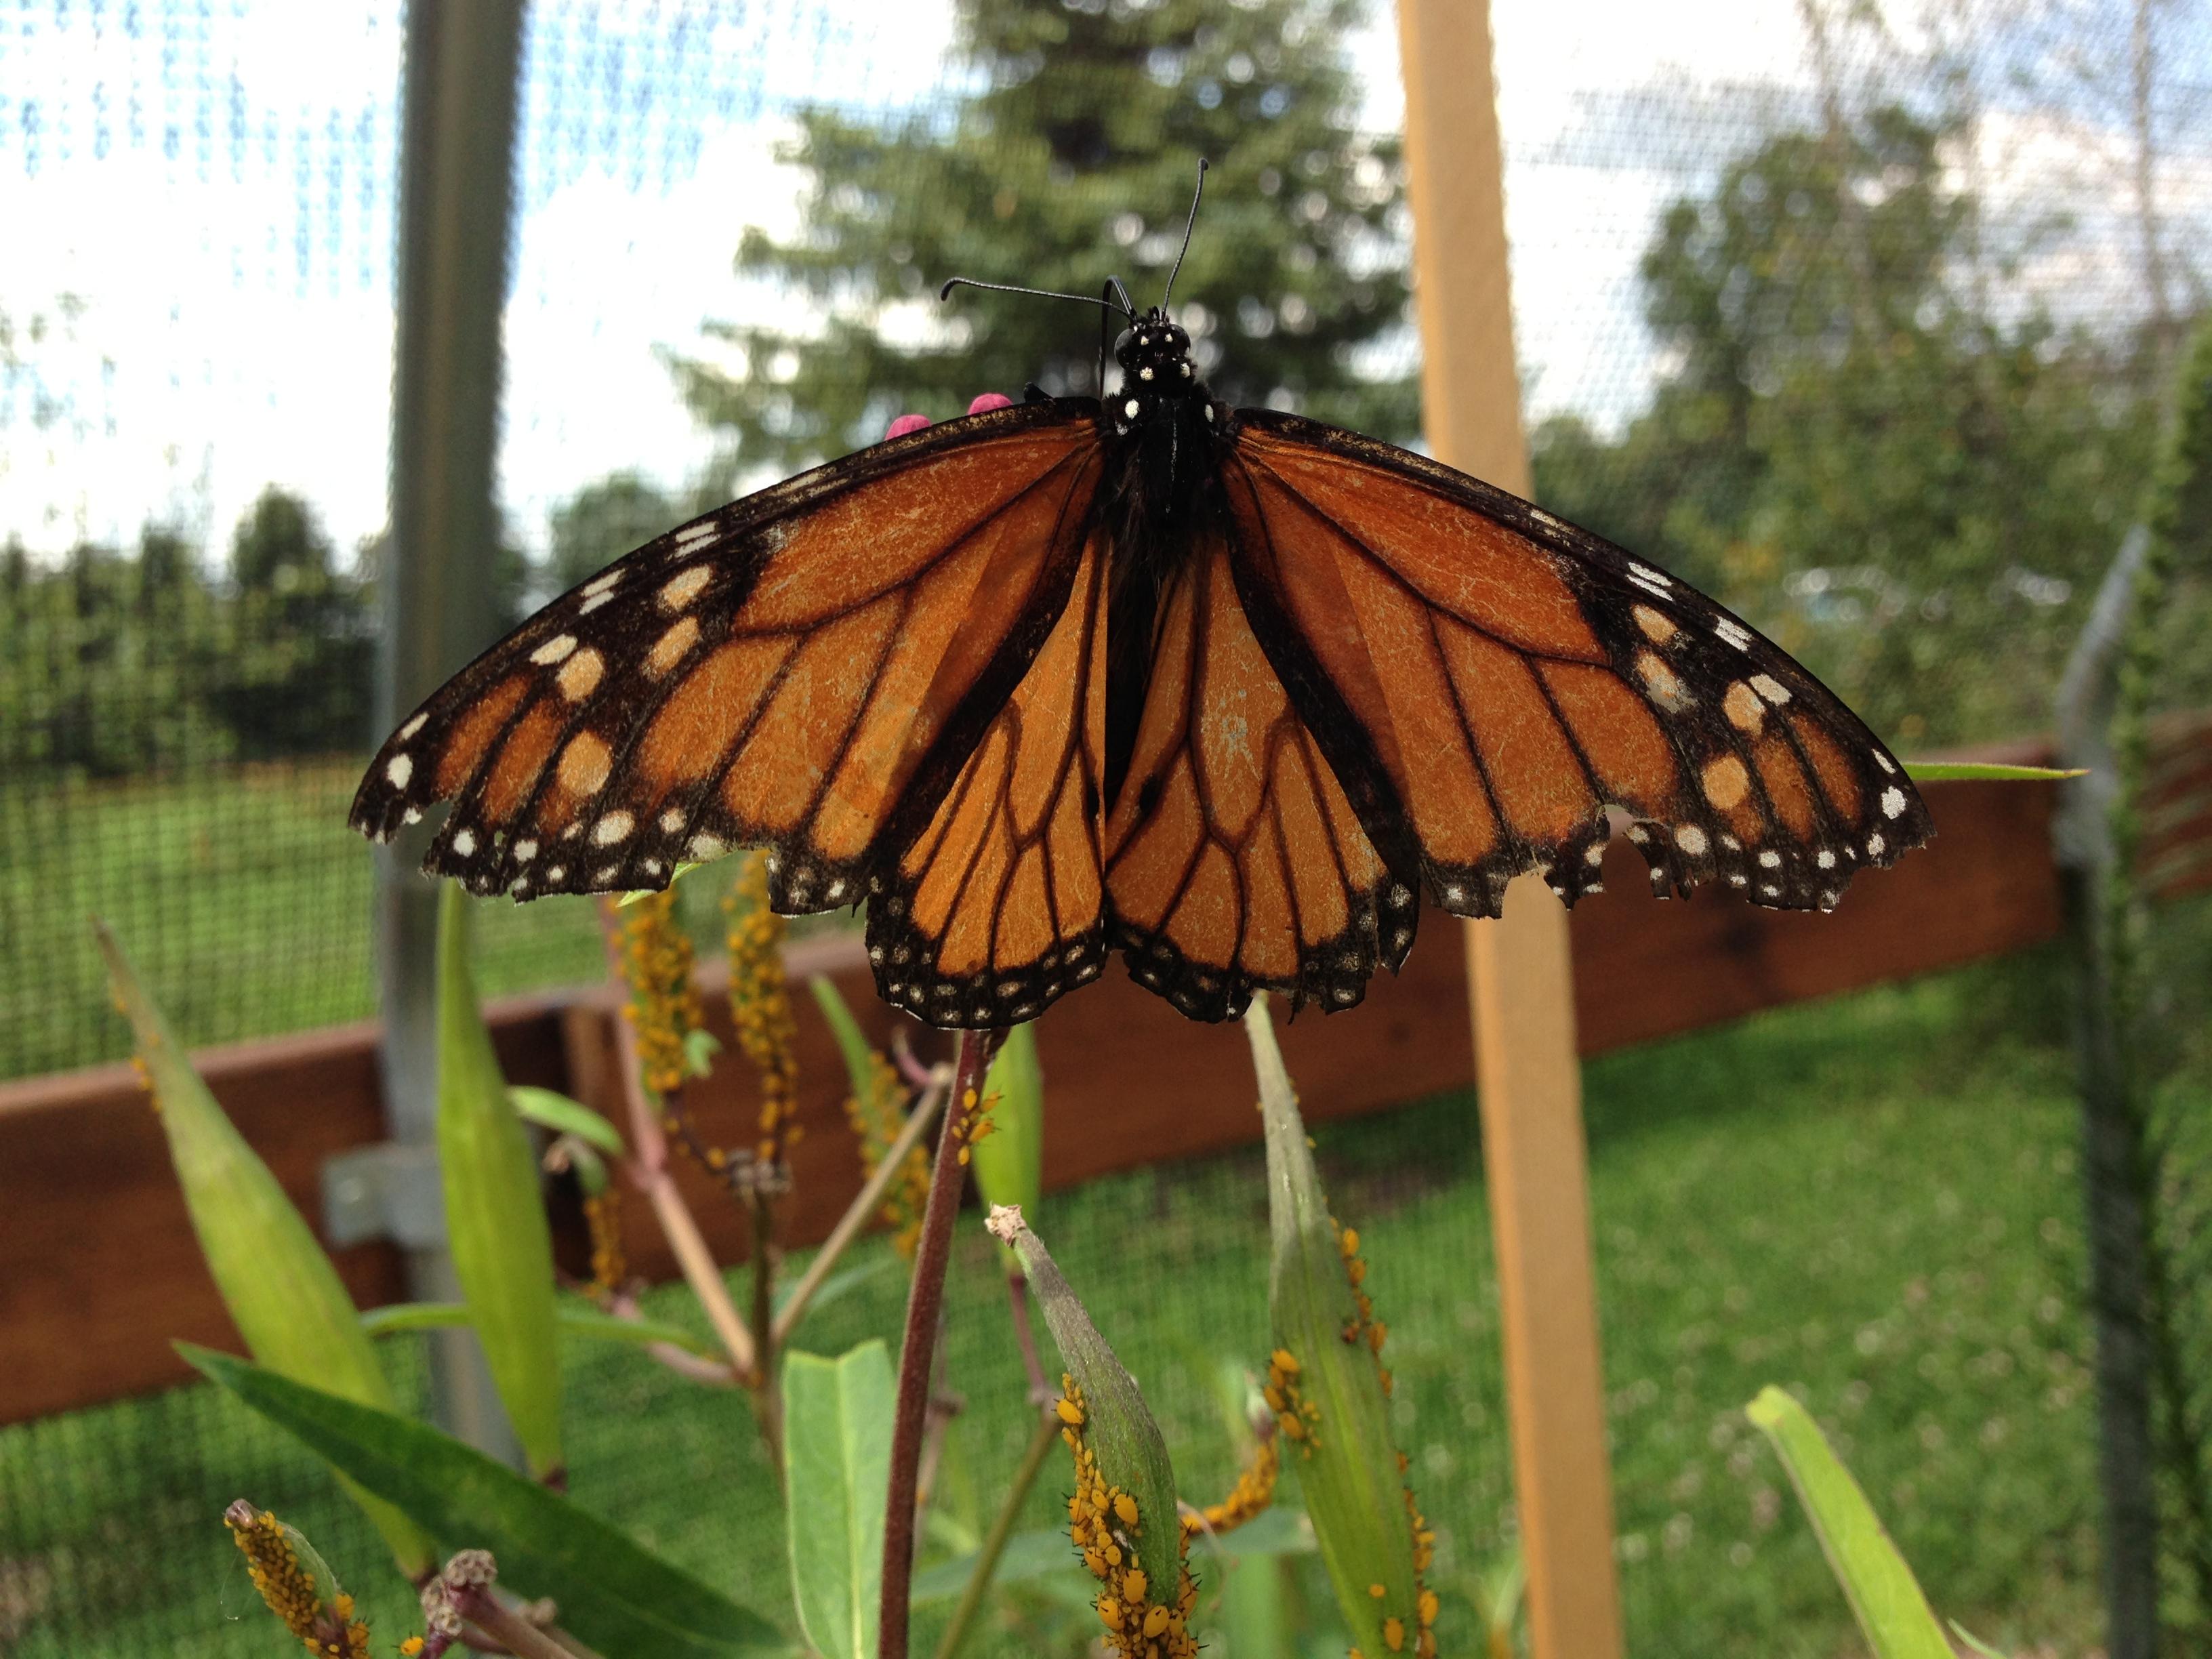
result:
[(1710, 588), (1911, 745), (2048, 719), (2152, 429), (2126, 343), (2002, 321), (1955, 281), (1971, 208), (1944, 133), (1902, 111), (1770, 137), (1644, 257), (1670, 363), (1650, 409), (1617, 440), (1571, 416), (1533, 436), (1546, 507)]

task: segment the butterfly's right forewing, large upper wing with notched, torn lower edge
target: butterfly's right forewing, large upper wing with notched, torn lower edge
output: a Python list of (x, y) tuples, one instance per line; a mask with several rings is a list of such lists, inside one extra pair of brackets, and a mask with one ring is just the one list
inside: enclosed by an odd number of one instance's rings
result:
[(1458, 916), (1540, 869), (1597, 889), (1608, 807), (1652, 885), (1829, 909), (1933, 834), (1905, 768), (1674, 577), (1318, 422), (1237, 416), (1237, 582), (1369, 834)]

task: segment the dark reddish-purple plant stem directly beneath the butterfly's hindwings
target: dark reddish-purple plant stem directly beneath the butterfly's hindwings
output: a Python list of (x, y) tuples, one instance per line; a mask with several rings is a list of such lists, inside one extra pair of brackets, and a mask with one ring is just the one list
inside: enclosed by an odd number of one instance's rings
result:
[[(929, 1206), (914, 1252), (914, 1290), (907, 1296), (907, 1336), (898, 1349), (898, 1416), (891, 1420), (891, 1489), (883, 1509), (883, 1617), (878, 1659), (907, 1659), (907, 1588), (914, 1577), (914, 1489), (920, 1473), (922, 1429), (929, 1418), (929, 1371), (945, 1307), (945, 1267), (953, 1254), (953, 1217), (960, 1212), (960, 1128), (982, 1097), (991, 1064), (991, 1031), (962, 1031), (953, 1060), (951, 1104), (929, 1172)], [(887, 1159), (889, 1161), (889, 1159)]]

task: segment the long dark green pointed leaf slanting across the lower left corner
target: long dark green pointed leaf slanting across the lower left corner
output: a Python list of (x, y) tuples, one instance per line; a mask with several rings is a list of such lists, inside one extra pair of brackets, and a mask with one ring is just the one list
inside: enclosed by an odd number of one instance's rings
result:
[(568, 1498), (438, 1429), (341, 1400), (204, 1347), (177, 1352), (279, 1429), (403, 1509), (449, 1548), (487, 1548), (500, 1584), (560, 1604), (562, 1628), (622, 1659), (787, 1655), (757, 1613)]

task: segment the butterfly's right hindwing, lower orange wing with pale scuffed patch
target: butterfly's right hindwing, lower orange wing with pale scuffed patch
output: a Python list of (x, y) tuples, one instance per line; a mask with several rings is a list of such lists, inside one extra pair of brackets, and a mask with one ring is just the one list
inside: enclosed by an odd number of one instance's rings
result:
[(1267, 659), (1225, 526), (1161, 597), (1128, 776), (1106, 821), (1110, 942), (1197, 1020), (1256, 987), (1347, 1009), (1413, 942), (1413, 889), (1360, 827)]

